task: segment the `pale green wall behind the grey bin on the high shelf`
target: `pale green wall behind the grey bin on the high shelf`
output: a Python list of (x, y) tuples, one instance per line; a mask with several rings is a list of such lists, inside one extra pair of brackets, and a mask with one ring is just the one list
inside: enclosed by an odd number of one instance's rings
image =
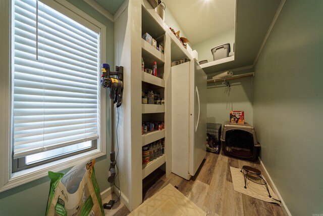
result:
[(221, 34), (193, 45), (192, 50), (197, 51), (198, 61), (207, 60), (208, 62), (211, 62), (213, 61), (211, 49), (223, 44), (230, 44), (231, 52), (229, 53), (229, 56), (233, 56), (234, 28), (228, 29)]

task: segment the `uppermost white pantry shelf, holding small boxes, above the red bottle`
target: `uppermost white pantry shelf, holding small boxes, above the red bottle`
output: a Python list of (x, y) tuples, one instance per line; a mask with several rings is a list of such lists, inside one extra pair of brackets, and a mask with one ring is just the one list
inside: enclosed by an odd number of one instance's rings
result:
[[(151, 64), (153, 61), (157, 62), (157, 69), (158, 65), (164, 65), (165, 63), (165, 57), (164, 54), (159, 52), (157, 49), (155, 49), (153, 46), (148, 44), (148, 42), (144, 39), (141, 39), (141, 48), (142, 48), (142, 58), (145, 61), (145, 67)], [(151, 69), (150, 66), (147, 68)]]

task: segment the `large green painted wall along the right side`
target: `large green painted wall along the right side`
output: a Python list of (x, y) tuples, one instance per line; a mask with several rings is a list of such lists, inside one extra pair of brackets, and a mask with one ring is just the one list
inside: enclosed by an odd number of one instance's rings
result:
[(323, 214), (323, 1), (287, 0), (255, 66), (261, 160), (292, 215)]

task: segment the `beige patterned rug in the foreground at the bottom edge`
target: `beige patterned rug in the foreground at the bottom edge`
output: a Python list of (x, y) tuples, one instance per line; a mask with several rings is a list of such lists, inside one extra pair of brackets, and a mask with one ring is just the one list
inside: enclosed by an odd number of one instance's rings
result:
[(158, 191), (148, 198), (141, 205), (133, 210), (129, 215), (206, 215), (191, 200), (179, 192), (171, 184)]

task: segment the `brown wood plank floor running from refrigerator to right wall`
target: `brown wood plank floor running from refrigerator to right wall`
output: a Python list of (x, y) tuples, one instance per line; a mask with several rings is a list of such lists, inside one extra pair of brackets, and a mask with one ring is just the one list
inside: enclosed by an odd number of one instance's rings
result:
[[(278, 205), (234, 191), (230, 166), (241, 168), (243, 165), (256, 167), (268, 179), (259, 162), (253, 163), (227, 157), (223, 153), (218, 155), (207, 152), (206, 159), (190, 181), (173, 173), (166, 178), (164, 171), (154, 171), (143, 181), (143, 199), (148, 199), (166, 185), (172, 184), (207, 215), (284, 215), (282, 207)], [(116, 200), (115, 194), (112, 197)], [(111, 196), (105, 198), (103, 203), (110, 199)], [(104, 211), (105, 215), (123, 216), (130, 213), (120, 201), (115, 203), (113, 209)]]

